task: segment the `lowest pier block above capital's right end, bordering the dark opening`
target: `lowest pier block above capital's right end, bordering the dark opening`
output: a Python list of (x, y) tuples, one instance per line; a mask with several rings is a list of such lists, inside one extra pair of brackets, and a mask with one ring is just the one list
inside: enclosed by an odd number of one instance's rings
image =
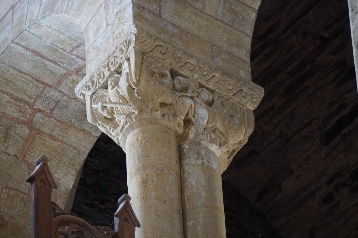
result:
[(217, 47), (213, 47), (213, 58), (214, 62), (220, 65), (223, 71), (238, 79), (251, 81), (251, 66), (248, 62)]

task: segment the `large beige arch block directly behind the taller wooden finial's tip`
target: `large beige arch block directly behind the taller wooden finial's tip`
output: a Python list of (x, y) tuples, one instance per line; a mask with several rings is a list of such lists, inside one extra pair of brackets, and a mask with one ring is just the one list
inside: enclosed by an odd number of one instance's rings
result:
[(37, 135), (29, 147), (26, 161), (33, 164), (40, 155), (49, 158), (49, 167), (55, 177), (71, 184), (86, 158), (86, 154), (68, 147), (61, 141)]

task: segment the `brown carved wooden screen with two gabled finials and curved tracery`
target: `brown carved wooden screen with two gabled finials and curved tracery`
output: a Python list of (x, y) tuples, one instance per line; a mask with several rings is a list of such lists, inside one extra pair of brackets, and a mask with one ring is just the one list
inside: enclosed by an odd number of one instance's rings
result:
[(115, 230), (110, 227), (91, 226), (81, 218), (66, 214), (51, 202), (52, 189), (57, 185), (48, 167), (48, 158), (40, 156), (36, 168), (26, 182), (31, 191), (32, 238), (134, 238), (135, 227), (140, 227), (130, 204), (130, 196), (124, 194), (118, 200), (114, 215)]

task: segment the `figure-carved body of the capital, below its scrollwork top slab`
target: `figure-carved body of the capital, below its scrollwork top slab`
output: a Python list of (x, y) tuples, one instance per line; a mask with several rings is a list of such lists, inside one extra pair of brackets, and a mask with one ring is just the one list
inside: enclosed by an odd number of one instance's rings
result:
[(118, 145), (126, 126), (136, 120), (168, 121), (181, 141), (200, 140), (221, 154), (226, 169), (253, 130), (252, 111), (212, 93), (197, 79), (173, 77), (161, 66), (135, 52), (124, 62), (121, 74), (109, 79), (108, 88), (87, 98), (88, 120)]

